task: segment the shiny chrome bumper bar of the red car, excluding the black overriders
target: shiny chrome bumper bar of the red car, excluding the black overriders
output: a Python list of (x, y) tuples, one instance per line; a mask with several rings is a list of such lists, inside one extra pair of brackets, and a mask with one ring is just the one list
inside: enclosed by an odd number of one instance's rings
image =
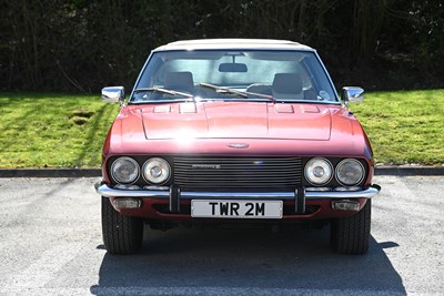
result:
[[(342, 198), (372, 198), (380, 193), (381, 187), (372, 185), (364, 191), (329, 191), (329, 192), (305, 192), (305, 200), (342, 200)], [(104, 197), (140, 197), (169, 200), (170, 191), (130, 191), (114, 190), (107, 184), (95, 184), (95, 191)], [(190, 192), (182, 191), (180, 198), (183, 200), (294, 200), (295, 192)]]

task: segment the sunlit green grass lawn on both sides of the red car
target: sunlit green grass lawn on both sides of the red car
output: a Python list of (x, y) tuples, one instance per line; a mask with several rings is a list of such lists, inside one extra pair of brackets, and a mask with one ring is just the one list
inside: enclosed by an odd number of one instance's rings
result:
[[(99, 167), (118, 110), (100, 95), (0, 93), (0, 167)], [(444, 90), (367, 93), (351, 110), (377, 163), (444, 165)]]

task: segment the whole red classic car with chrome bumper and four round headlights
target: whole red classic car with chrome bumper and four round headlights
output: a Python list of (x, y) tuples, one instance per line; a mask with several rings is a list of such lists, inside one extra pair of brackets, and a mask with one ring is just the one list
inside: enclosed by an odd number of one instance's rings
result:
[(373, 152), (315, 50), (281, 40), (178, 41), (154, 49), (103, 145), (103, 242), (140, 249), (143, 227), (329, 225), (333, 249), (369, 248)]

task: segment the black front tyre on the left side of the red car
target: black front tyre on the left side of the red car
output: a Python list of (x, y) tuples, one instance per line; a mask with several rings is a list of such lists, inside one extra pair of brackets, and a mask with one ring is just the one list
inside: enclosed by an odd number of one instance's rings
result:
[(120, 214), (102, 196), (102, 236), (109, 253), (133, 254), (142, 246), (143, 221)]

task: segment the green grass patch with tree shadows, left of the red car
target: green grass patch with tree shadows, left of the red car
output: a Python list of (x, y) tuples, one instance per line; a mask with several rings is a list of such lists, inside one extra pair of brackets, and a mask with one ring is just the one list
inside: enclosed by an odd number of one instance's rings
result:
[(0, 167), (99, 167), (118, 110), (100, 95), (0, 93)]

